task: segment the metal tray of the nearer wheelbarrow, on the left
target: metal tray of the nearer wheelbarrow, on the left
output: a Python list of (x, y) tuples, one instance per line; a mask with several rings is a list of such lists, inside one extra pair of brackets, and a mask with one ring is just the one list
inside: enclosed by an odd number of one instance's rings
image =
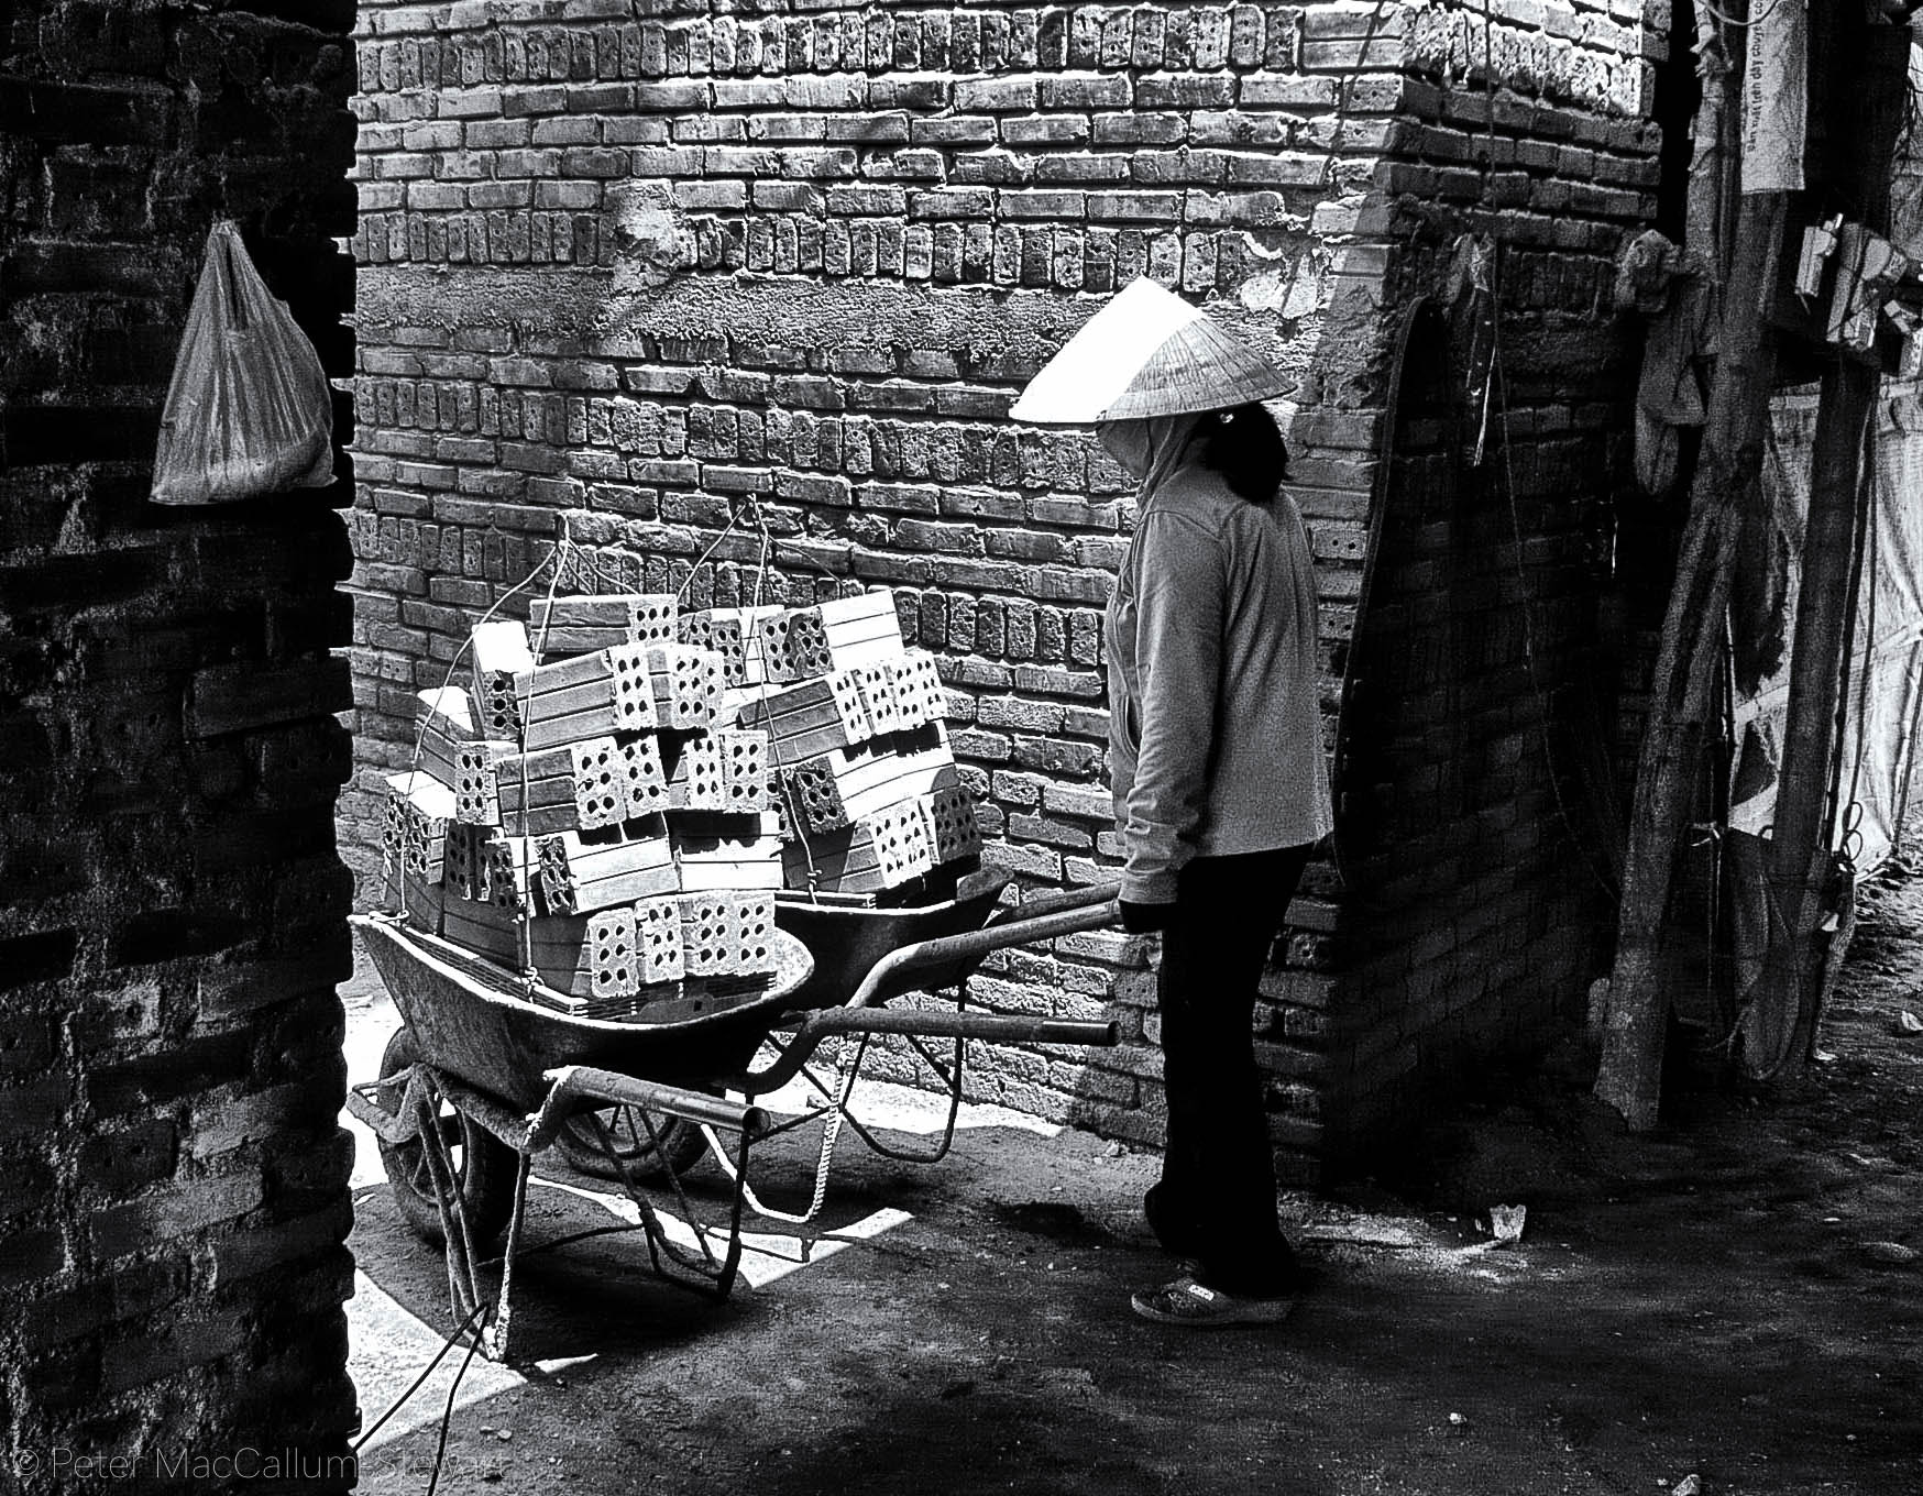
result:
[(354, 925), (419, 1058), (527, 1111), (548, 1096), (546, 1073), (563, 1065), (708, 1088), (752, 1060), (813, 969), (800, 940), (771, 931), (771, 979), (690, 979), (613, 1023), (531, 1002), (512, 971), (437, 935), (383, 915), (356, 915)]

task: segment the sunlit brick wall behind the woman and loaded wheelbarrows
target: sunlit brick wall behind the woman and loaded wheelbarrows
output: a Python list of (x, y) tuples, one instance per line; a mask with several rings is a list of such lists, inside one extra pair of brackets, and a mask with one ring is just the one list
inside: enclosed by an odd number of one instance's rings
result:
[[(1471, 33), (1392, 4), (365, 6), (362, 767), (344, 838), (373, 840), (413, 690), (442, 683), (558, 523), (602, 583), (687, 585), (704, 606), (752, 590), (754, 513), (781, 598), (892, 585), (910, 636), (944, 656), (990, 860), (1029, 885), (1108, 875), (1098, 619), (1133, 506), (1088, 433), (1006, 415), (1098, 304), (1081, 292), (1154, 275), (1300, 375), (1331, 711), (1392, 302), (1446, 279), (1461, 231), (1508, 246), (1525, 523), (1583, 531), (1569, 515), (1608, 492), (1602, 433), (1627, 386), (1613, 335), (1583, 312), (1646, 215), (1640, 13), (1492, 15), (1485, 44), (1481, 17)], [(1444, 92), (1444, 75), (1467, 83)], [(1558, 488), (1579, 467), (1579, 492)], [(1536, 513), (1563, 494), (1567, 515)], [(1525, 567), (1563, 565), (1538, 550)], [(1556, 640), (1550, 669), (1571, 658)], [(1540, 819), (1540, 798), (1511, 800)], [(1546, 829), (1540, 848), (1515, 836), (1519, 869), (1554, 856)], [(1338, 981), (1333, 869), (1294, 919), (1263, 1054), (1302, 1173), (1331, 1146), (1340, 1090), (1381, 1079), (1367, 1044), (1394, 1015), (1375, 996), (1386, 977)], [(998, 1052), (979, 1094), (1160, 1138), (1133, 946), (1015, 954), (977, 990), (1119, 1013), (1129, 1036), (1092, 1063)], [(1331, 1023), (1344, 1006), (1356, 1019)], [(1367, 1110), (1354, 1117), (1367, 1131)]]

